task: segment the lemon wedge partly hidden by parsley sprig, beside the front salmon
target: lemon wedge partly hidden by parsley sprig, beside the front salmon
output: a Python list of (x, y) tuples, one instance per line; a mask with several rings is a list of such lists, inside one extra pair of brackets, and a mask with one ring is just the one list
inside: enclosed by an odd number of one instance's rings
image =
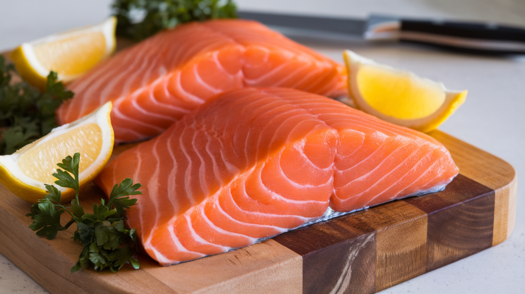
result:
[[(68, 155), (80, 153), (79, 183), (83, 186), (102, 170), (113, 150), (111, 102), (75, 122), (54, 128), (46, 136), (17, 150), (0, 156), (0, 182), (18, 197), (36, 203), (47, 194), (44, 184), (57, 179), (58, 162)], [(62, 201), (75, 197), (75, 190), (57, 187)]]

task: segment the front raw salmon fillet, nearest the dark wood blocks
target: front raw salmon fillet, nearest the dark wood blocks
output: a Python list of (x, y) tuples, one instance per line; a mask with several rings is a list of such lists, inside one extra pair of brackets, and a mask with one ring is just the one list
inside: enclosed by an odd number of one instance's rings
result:
[(125, 151), (96, 183), (107, 194), (128, 177), (144, 185), (129, 225), (150, 256), (171, 265), (253, 244), (330, 209), (441, 190), (457, 173), (448, 150), (416, 130), (316, 94), (244, 88)]

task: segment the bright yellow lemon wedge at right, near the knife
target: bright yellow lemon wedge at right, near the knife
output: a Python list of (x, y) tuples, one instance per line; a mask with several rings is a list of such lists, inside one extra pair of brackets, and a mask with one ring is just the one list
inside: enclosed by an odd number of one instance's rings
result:
[(384, 121), (428, 133), (465, 102), (467, 91), (447, 90), (443, 83), (343, 53), (348, 92), (356, 107)]

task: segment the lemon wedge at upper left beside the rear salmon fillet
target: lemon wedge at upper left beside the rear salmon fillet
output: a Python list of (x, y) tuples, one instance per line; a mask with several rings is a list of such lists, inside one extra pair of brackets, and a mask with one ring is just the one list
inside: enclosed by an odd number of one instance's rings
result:
[(117, 19), (69, 30), (23, 43), (10, 54), (16, 69), (31, 85), (43, 90), (49, 71), (58, 73), (65, 83), (78, 78), (115, 49)]

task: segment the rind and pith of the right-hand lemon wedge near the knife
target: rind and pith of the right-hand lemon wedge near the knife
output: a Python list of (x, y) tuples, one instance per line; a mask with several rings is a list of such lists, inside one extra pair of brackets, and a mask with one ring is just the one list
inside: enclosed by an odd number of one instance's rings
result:
[[(419, 77), (418, 75), (401, 69), (396, 69), (390, 66), (387, 66), (385, 64), (377, 63), (372, 59), (368, 59), (365, 57), (362, 57), (350, 50), (345, 50), (343, 53), (343, 58), (346, 63), (346, 68), (348, 69), (348, 87), (349, 87), (349, 96), (353, 100), (356, 108), (369, 113), (373, 116), (376, 116), (380, 119), (383, 119), (383, 121), (387, 121), (396, 125), (404, 126), (413, 128), (416, 130), (419, 130), (423, 133), (428, 133), (434, 129), (436, 129), (440, 124), (442, 124), (446, 119), (453, 114), (456, 109), (465, 102), (467, 91), (456, 91), (456, 90), (448, 90), (446, 89), (445, 85), (441, 82), (436, 82), (430, 79)], [(356, 69), (360, 66), (360, 64), (367, 64), (372, 65), (380, 68), (384, 68), (386, 70), (392, 70), (396, 71), (402, 74), (409, 74), (412, 78), (419, 79), (425, 82), (433, 83), (437, 86), (439, 86), (443, 92), (445, 93), (445, 100), (443, 101), (443, 104), (432, 114), (427, 115), (422, 118), (415, 118), (415, 119), (401, 119), (396, 118), (390, 115), (385, 115), (370, 106), (368, 103), (364, 101), (364, 99), (361, 96), (361, 93), (359, 92), (359, 87), (356, 83), (355, 74)]]

